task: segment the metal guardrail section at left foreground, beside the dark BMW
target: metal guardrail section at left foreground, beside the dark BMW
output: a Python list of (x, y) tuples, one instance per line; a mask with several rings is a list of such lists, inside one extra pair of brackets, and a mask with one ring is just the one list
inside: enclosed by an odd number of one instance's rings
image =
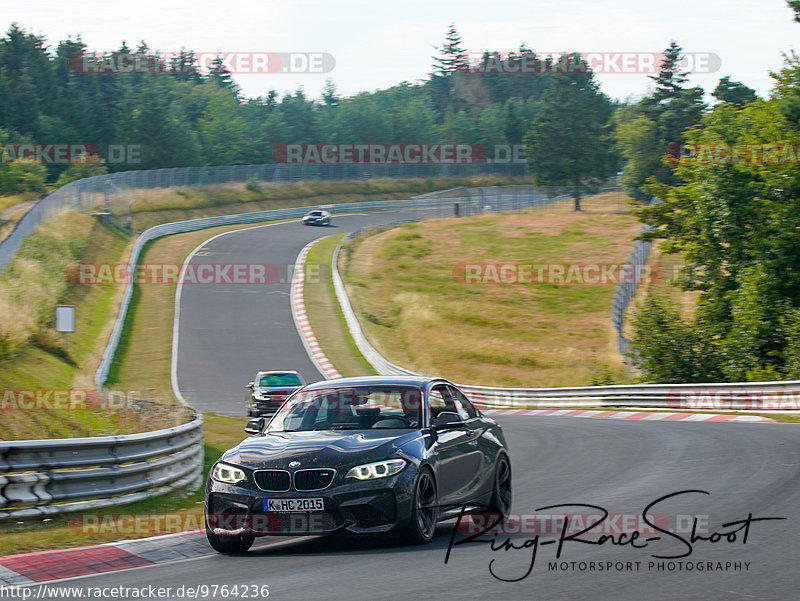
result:
[(203, 415), (140, 434), (0, 442), (0, 521), (133, 503), (200, 484)]

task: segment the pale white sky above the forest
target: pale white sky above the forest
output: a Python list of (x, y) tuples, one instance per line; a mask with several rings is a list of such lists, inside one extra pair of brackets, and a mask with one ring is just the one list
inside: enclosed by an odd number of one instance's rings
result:
[[(729, 75), (762, 97), (782, 53), (800, 51), (800, 23), (785, 0), (0, 0), (3, 33), (13, 22), (44, 35), (51, 46), (80, 36), (89, 50), (102, 52), (123, 40), (131, 47), (144, 40), (165, 53), (221, 51), (240, 61), (254, 60), (249, 53), (297, 53), (297, 65), (305, 59), (332, 67), (237, 73), (246, 97), (302, 87), (319, 98), (326, 79), (341, 96), (415, 83), (431, 71), (450, 23), (469, 52), (524, 44), (535, 52), (605, 53), (598, 56), (611, 61), (608, 71), (621, 64), (613, 62), (617, 53), (641, 61), (675, 40), (698, 71), (712, 71), (693, 73), (691, 85), (710, 92)], [(274, 57), (268, 61), (276, 64)], [(632, 99), (652, 89), (646, 65), (638, 71), (604, 72), (597, 79), (609, 96)]]

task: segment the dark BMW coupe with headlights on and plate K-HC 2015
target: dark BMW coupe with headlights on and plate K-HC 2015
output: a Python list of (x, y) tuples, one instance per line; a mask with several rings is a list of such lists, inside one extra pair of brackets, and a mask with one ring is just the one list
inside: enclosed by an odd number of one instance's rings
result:
[(206, 484), (206, 534), (221, 553), (264, 535), (394, 532), (426, 543), (462, 510), (511, 508), (502, 429), (441, 378), (309, 384), (246, 431)]

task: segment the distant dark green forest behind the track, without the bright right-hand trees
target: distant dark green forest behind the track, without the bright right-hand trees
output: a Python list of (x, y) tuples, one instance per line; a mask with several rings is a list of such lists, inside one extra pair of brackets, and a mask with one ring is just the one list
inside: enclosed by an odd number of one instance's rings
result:
[[(80, 68), (82, 56), (110, 64), (116, 57), (135, 57), (137, 66), (150, 68), (91, 72)], [(272, 163), (276, 147), (285, 144), (474, 144), (489, 157), (497, 147), (525, 145), (537, 181), (571, 185), (578, 194), (584, 184), (620, 169), (616, 132), (620, 121), (632, 119), (628, 113), (636, 104), (603, 94), (579, 55), (563, 57), (568, 69), (549, 58), (540, 61), (525, 47), (487, 51), (477, 66), (467, 64), (466, 56), (450, 26), (431, 72), (419, 82), (341, 97), (327, 80), (319, 98), (302, 89), (245, 98), (222, 56), (204, 69), (191, 50), (165, 56), (145, 42), (136, 48), (123, 42), (94, 57), (79, 37), (50, 47), (43, 36), (14, 24), (0, 38), (0, 194), (41, 192), (108, 171)], [(654, 77), (670, 101), (661, 137), (695, 123), (704, 106), (702, 92), (684, 97), (681, 82), (664, 74), (674, 68), (669, 60), (677, 56), (668, 57), (662, 75)], [(536, 68), (515, 68), (520, 64)], [(649, 117), (658, 119), (654, 112)], [(577, 122), (571, 136), (564, 135), (565, 120)], [(88, 144), (102, 160), (16, 161), (14, 149), (24, 143)], [(120, 153), (108, 156), (109, 148), (135, 148), (135, 161), (120, 160)], [(657, 154), (655, 148), (648, 152)], [(561, 159), (569, 153), (567, 161)]]

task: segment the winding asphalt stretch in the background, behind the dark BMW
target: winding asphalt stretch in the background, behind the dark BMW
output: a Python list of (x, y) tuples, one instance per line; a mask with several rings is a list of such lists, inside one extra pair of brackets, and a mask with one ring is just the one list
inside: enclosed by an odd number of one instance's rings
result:
[(186, 401), (202, 411), (244, 417), (245, 385), (259, 370), (294, 369), (307, 381), (324, 379), (292, 319), (289, 290), (297, 255), (316, 238), (413, 215), (413, 210), (334, 215), (330, 227), (293, 221), (238, 230), (205, 244), (192, 265), (267, 263), (277, 268), (278, 279), (268, 285), (183, 286), (177, 376)]

